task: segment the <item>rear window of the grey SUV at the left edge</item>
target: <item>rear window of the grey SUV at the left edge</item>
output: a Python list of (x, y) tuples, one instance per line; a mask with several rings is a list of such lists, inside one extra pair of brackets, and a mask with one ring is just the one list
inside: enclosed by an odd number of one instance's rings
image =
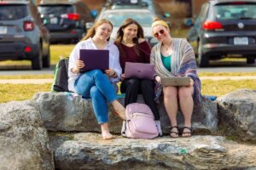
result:
[(27, 14), (26, 5), (0, 5), (0, 20), (20, 20)]

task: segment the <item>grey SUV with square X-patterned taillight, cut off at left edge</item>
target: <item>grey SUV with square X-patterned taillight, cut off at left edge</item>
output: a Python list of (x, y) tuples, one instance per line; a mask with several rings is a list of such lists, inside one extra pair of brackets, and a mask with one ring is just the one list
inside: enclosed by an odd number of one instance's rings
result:
[(30, 1), (0, 2), (0, 60), (32, 61), (32, 69), (49, 67), (49, 31)]

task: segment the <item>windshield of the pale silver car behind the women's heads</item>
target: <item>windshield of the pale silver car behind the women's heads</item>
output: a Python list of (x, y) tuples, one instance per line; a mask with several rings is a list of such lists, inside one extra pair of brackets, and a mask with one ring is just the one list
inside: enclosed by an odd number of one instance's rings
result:
[(132, 18), (137, 20), (143, 27), (151, 26), (154, 16), (150, 13), (140, 13), (138, 12), (109, 12), (103, 14), (104, 19), (110, 20), (114, 27), (121, 26), (123, 21), (127, 18)]

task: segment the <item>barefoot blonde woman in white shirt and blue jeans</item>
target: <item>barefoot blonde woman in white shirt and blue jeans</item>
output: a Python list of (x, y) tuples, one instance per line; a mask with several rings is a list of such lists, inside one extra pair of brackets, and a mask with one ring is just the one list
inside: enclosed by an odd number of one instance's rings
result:
[[(68, 88), (91, 98), (96, 120), (101, 124), (103, 139), (113, 139), (108, 129), (108, 105), (111, 103), (116, 116), (125, 120), (125, 108), (117, 100), (112, 82), (119, 82), (122, 69), (119, 65), (119, 50), (109, 41), (113, 25), (109, 20), (99, 20), (90, 28), (86, 36), (73, 48), (68, 65)], [(79, 59), (80, 49), (109, 50), (109, 69), (80, 72), (86, 63)], [(93, 57), (93, 56), (91, 56)]]

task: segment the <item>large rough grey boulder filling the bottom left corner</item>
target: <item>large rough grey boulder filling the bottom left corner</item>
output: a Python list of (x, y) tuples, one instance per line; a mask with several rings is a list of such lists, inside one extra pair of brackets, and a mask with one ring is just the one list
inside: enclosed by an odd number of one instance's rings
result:
[(49, 137), (31, 101), (0, 105), (0, 169), (54, 169)]

